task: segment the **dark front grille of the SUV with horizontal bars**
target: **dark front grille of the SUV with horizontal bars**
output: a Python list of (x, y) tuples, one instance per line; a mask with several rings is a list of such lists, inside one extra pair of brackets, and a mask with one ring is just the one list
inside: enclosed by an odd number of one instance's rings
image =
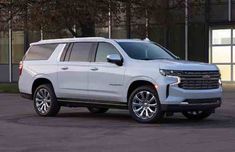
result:
[(190, 90), (217, 89), (219, 88), (219, 71), (180, 71), (180, 88)]

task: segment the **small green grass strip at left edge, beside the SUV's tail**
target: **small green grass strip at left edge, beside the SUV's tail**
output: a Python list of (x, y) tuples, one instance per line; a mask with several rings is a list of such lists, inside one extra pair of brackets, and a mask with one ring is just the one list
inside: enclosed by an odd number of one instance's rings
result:
[(19, 93), (17, 83), (0, 83), (0, 93)]

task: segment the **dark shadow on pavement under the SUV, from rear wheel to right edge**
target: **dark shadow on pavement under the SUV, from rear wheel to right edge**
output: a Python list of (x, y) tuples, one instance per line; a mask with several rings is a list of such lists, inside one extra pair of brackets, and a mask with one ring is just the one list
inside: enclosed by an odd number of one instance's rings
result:
[[(230, 116), (211, 116), (204, 120), (188, 120), (180, 114), (176, 114), (172, 117), (165, 117), (160, 122), (152, 123), (152, 124), (141, 124), (136, 122), (131, 118), (128, 112), (123, 113), (115, 113), (108, 112), (104, 114), (92, 114), (89, 112), (69, 112), (69, 113), (60, 113), (57, 117), (59, 118), (76, 118), (82, 121), (95, 121), (95, 122), (104, 122), (106, 124), (118, 124), (118, 126), (125, 127), (194, 127), (194, 128), (225, 128), (225, 127), (235, 127), (235, 119)], [(101, 125), (102, 124), (97, 124)]]

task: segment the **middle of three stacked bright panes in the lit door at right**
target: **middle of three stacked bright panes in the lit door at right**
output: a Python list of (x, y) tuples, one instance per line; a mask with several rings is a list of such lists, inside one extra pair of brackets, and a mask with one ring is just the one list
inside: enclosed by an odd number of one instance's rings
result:
[(230, 63), (231, 46), (213, 46), (212, 63)]

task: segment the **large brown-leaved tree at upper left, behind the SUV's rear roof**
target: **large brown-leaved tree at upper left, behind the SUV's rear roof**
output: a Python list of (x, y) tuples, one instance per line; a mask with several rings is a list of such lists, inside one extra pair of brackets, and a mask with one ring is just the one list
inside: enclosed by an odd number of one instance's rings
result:
[[(119, 3), (110, 0), (5, 0), (0, 2), (0, 18), (5, 23), (27, 20), (31, 30), (66, 29), (75, 37), (94, 36), (95, 23), (108, 20), (109, 7), (118, 13)], [(6, 15), (9, 11), (11, 16)]]

